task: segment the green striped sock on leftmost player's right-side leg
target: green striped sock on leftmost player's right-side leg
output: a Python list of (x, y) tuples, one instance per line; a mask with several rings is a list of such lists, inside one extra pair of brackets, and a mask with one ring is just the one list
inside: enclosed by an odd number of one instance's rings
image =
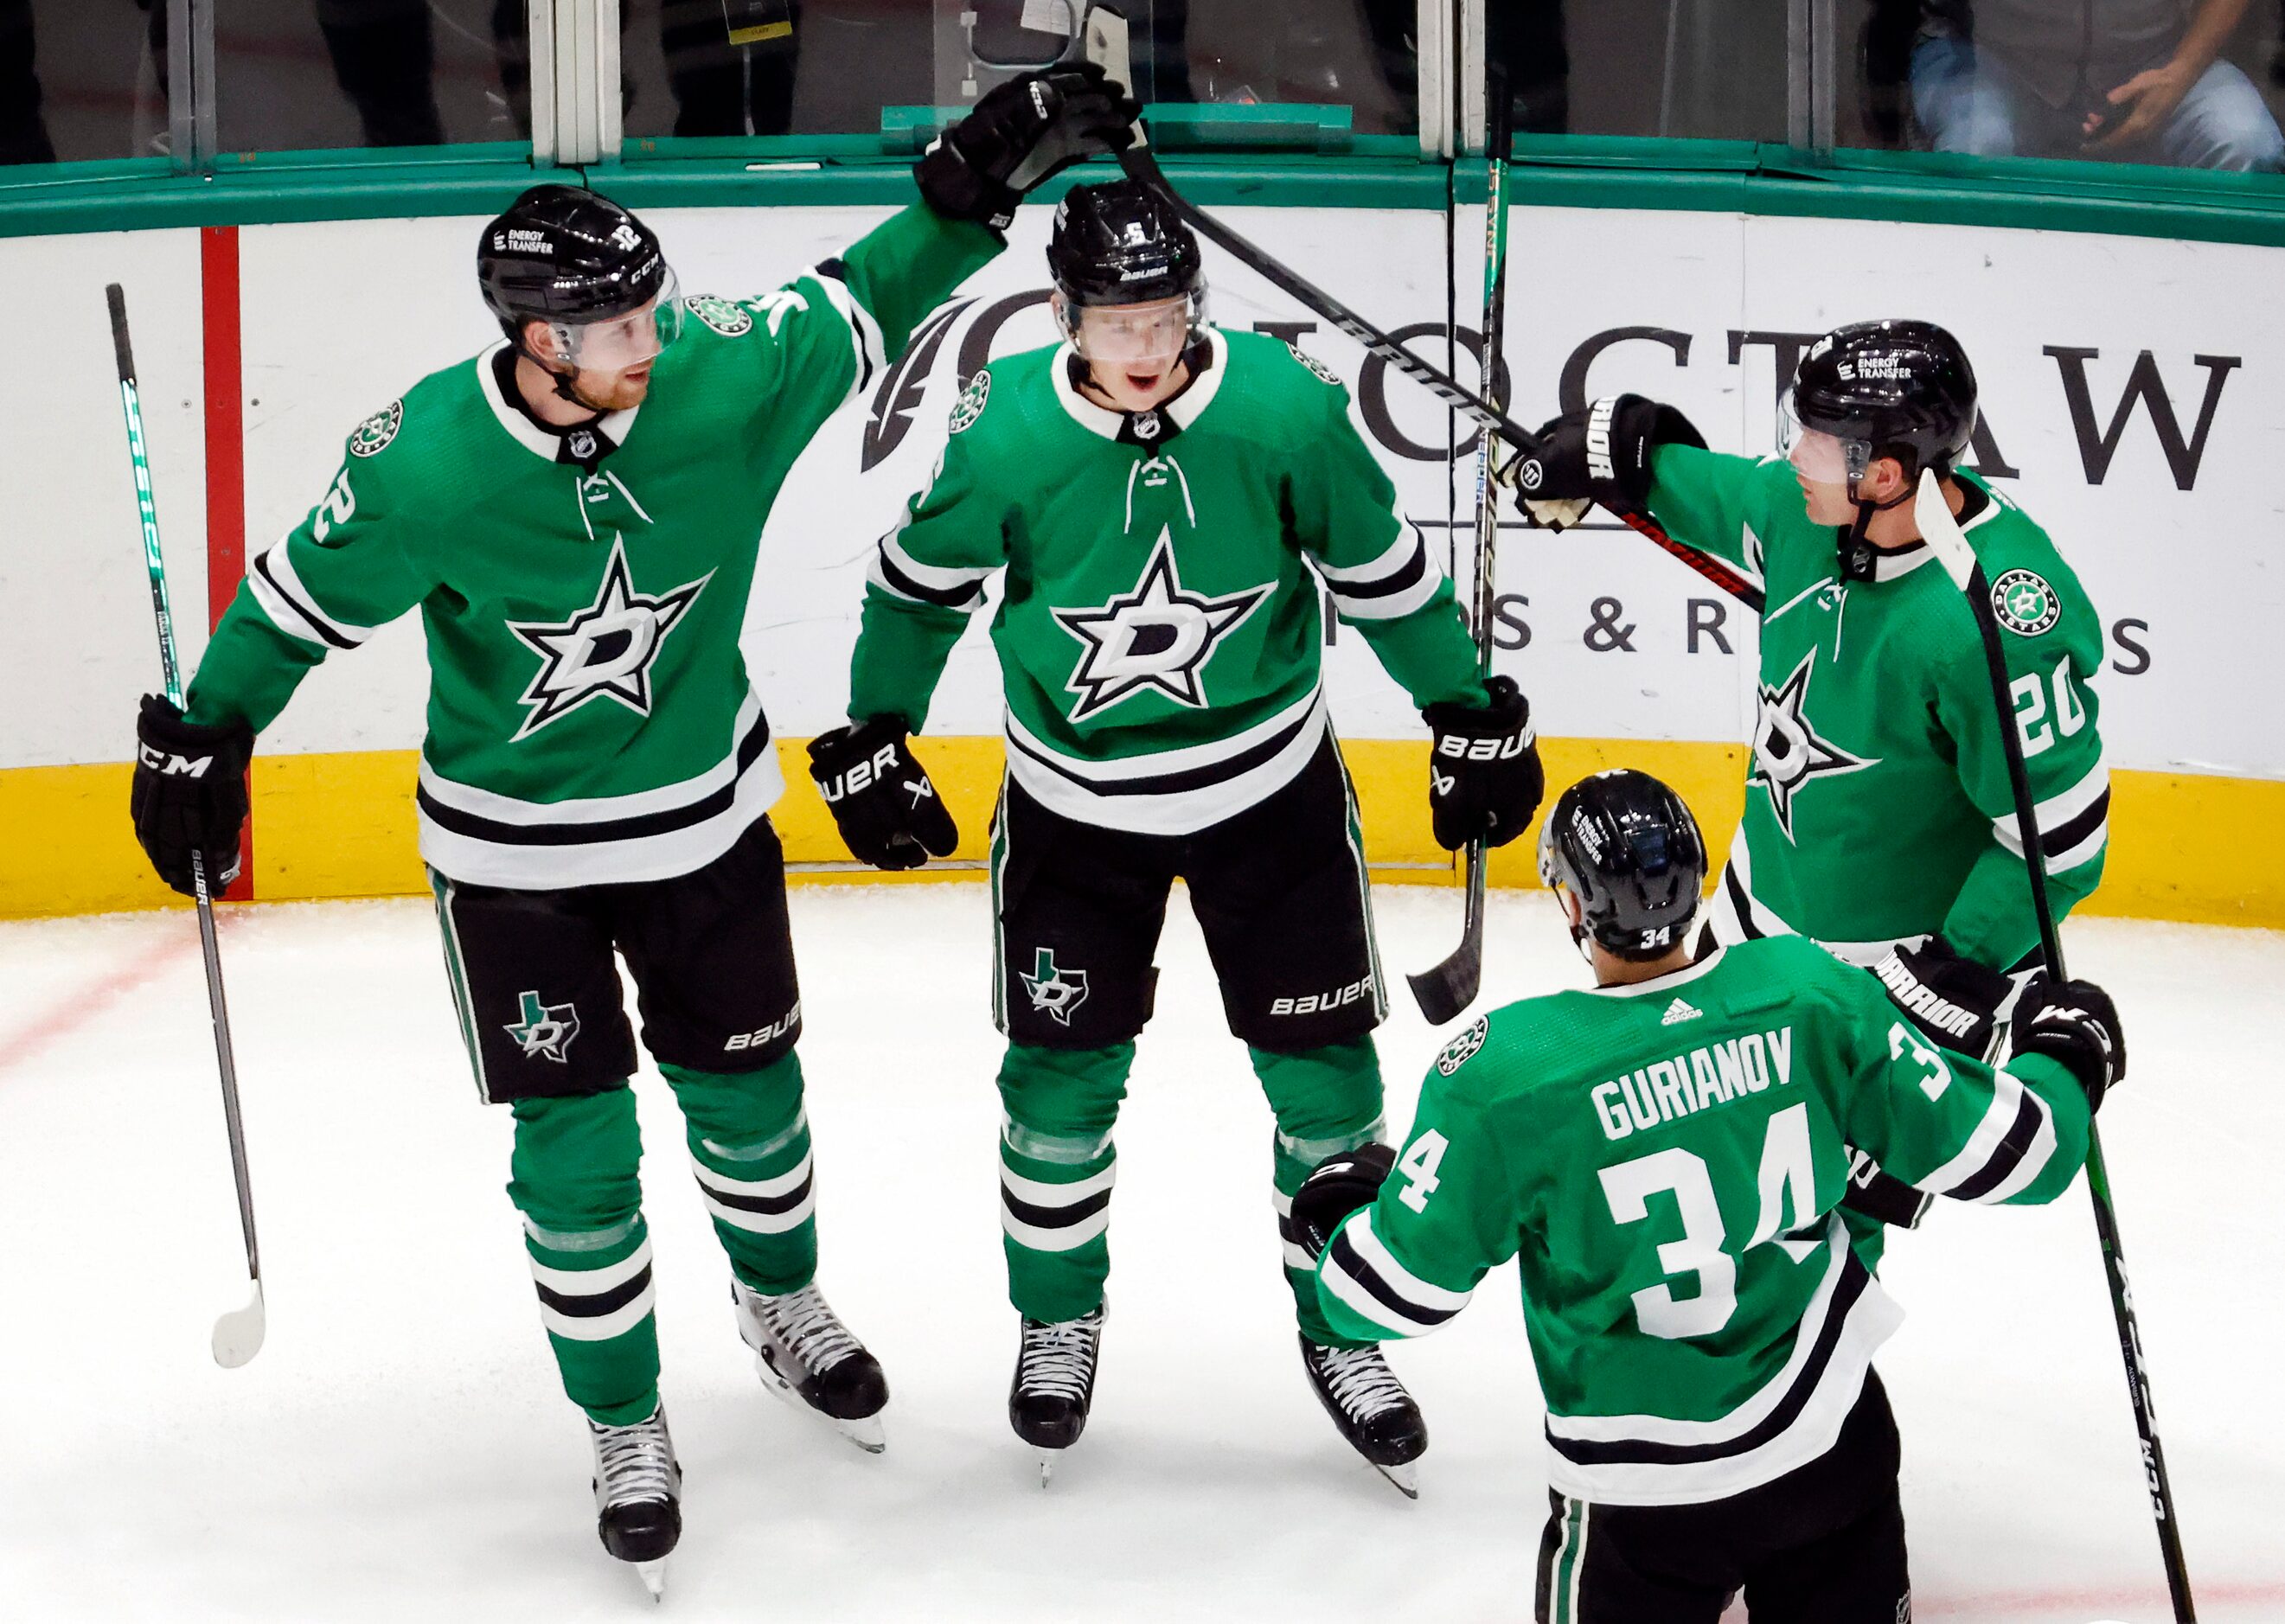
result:
[(658, 1067), (690, 1135), (690, 1167), (729, 1265), (754, 1291), (800, 1291), (818, 1275), (818, 1185), (802, 1110), (802, 1062), (761, 1071)]

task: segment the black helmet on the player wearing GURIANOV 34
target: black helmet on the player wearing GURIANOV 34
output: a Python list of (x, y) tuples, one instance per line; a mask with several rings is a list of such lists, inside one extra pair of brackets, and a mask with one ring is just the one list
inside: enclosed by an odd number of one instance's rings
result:
[(1682, 797), (1647, 772), (1579, 779), (1540, 825), (1540, 879), (1579, 898), (1572, 941), (1620, 959), (1670, 952), (1707, 879), (1707, 845)]

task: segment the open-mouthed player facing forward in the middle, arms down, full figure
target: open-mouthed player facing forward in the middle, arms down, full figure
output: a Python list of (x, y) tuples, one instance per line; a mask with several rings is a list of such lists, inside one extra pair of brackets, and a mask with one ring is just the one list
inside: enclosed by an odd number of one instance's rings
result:
[[(928, 719), (985, 582), (1003, 578), (994, 1014), (1021, 1316), (1008, 1414), (1042, 1471), (1079, 1439), (1095, 1391), (1113, 1124), (1177, 877), (1277, 1117), (1280, 1215), (1316, 1160), (1382, 1131), (1382, 978), (1325, 719), (1318, 582), (1426, 708), (1446, 847), (1515, 838), (1540, 799), (1524, 697), (1478, 676), (1435, 553), (1350, 427), (1348, 391), (1282, 340), (1206, 327), (1197, 242), (1145, 187), (1074, 190), (1049, 270), (1069, 340), (969, 379), (930, 487), (873, 562), (855, 724), (811, 747), (857, 857), (909, 868), (951, 852), (953, 822), (905, 735)], [(1284, 1259), (1309, 1382), (1410, 1492), (1419, 1409), (1371, 1336), (1323, 1318), (1291, 1236)]]

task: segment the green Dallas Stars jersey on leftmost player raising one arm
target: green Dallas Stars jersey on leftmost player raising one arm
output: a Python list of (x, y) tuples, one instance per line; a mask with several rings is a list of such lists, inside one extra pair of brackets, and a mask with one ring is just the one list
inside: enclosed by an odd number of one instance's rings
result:
[(706, 866), (784, 788), (738, 653), (770, 503), (999, 247), (914, 206), (777, 292), (688, 299), (649, 397), (564, 436), (510, 400), (505, 345), (425, 377), (251, 562), (192, 719), (267, 726), (318, 660), (418, 605), (432, 868), (553, 889)]

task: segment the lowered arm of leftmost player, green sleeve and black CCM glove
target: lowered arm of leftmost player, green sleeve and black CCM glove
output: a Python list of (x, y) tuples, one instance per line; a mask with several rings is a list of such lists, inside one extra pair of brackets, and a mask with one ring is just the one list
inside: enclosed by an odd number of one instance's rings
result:
[(404, 614), (434, 573), (400, 523), (404, 496), (384, 466), (402, 427), (391, 402), (350, 434), (340, 471), (308, 516), (254, 555), (176, 710), (144, 694), (135, 724), (135, 838), (165, 879), (192, 891), (190, 852), (219, 886), (238, 873), (254, 735), (336, 649), (356, 649)]

